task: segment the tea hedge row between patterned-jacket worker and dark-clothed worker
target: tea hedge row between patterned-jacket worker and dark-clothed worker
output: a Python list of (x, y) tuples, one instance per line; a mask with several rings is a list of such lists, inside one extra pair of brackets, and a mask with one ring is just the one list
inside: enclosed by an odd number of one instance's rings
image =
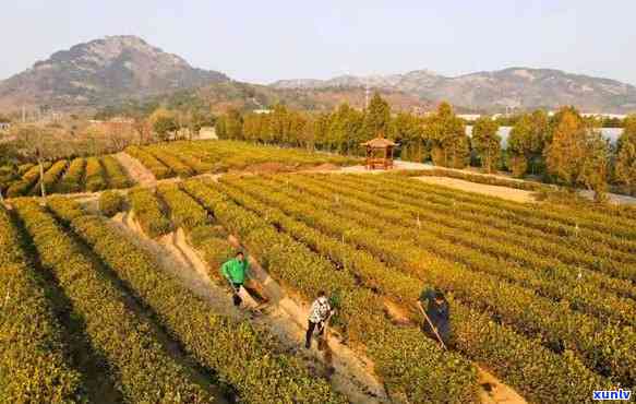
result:
[(304, 300), (310, 301), (321, 289), (335, 296), (339, 307), (335, 325), (351, 344), (364, 346), (393, 396), (417, 403), (475, 399), (472, 366), (457, 354), (440, 350), (419, 330), (393, 325), (385, 318), (383, 300), (358, 287), (350, 273), (338, 271), (327, 259), (219, 191), (199, 181), (187, 181), (183, 189), (240, 236), (272, 276), (300, 293)]

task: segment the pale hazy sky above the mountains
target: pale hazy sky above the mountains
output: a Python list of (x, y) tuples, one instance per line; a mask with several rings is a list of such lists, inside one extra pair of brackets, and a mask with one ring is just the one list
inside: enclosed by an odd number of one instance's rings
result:
[(8, 0), (0, 79), (56, 50), (134, 34), (233, 79), (514, 66), (636, 84), (635, 0)]

